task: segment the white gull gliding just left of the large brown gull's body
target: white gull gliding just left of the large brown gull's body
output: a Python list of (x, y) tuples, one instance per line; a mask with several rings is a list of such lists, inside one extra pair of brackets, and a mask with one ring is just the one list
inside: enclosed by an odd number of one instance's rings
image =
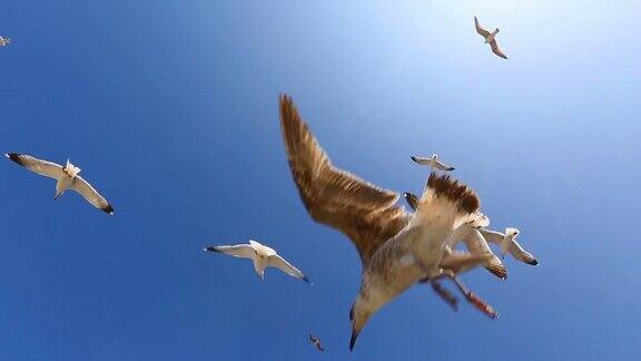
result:
[(303, 272), (279, 256), (274, 248), (254, 240), (249, 240), (249, 244), (208, 246), (203, 248), (203, 251), (219, 252), (240, 258), (250, 258), (254, 261), (254, 270), (256, 270), (256, 273), (263, 282), (265, 282), (265, 269), (276, 267), (293, 277), (310, 283)]

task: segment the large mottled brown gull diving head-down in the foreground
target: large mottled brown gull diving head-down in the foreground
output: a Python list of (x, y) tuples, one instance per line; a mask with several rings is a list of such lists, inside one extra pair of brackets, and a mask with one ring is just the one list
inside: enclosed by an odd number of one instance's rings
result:
[[(447, 236), (479, 208), (471, 189), (432, 173), (418, 211), (408, 214), (396, 205), (397, 193), (335, 167), (290, 97), (282, 95), (279, 104), (289, 168), (307, 213), (345, 234), (361, 256), (361, 290), (349, 312), (351, 350), (372, 315), (415, 283), (456, 280), (440, 267), (442, 262), (456, 267), (484, 261), (485, 255), (444, 257)], [(471, 292), (464, 294), (473, 304), (483, 303)]]

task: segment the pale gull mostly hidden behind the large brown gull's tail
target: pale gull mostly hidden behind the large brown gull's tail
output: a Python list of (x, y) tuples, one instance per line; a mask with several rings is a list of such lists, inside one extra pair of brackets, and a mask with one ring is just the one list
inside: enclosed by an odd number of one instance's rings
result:
[[(407, 204), (410, 204), (410, 207), (413, 211), (416, 211), (420, 204), (418, 197), (407, 192), (404, 193), (403, 196), (405, 197)], [(456, 230), (454, 230), (454, 232), (450, 236), (448, 252), (457, 253), (452, 250), (456, 247), (456, 244), (460, 241), (463, 241), (463, 243), (472, 254), (487, 255), (487, 258), (483, 264), (485, 270), (490, 271), (492, 274), (494, 274), (501, 280), (506, 280), (507, 270), (505, 269), (501, 260), (499, 260), (499, 257), (492, 252), (492, 250), (487, 245), (487, 241), (485, 241), (483, 235), (477, 230), (479, 227), (485, 227), (487, 225), (490, 225), (490, 219), (487, 218), (487, 216), (485, 216), (481, 212), (477, 212), (476, 216), (473, 219), (460, 225)], [(471, 269), (472, 266), (469, 265), (466, 267), (461, 267), (458, 270), (453, 271), (458, 274), (465, 271), (470, 271)]]

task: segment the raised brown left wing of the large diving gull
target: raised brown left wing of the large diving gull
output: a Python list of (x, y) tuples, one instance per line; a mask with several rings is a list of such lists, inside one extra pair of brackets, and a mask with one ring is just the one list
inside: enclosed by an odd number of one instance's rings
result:
[(349, 237), (366, 264), (381, 244), (407, 224), (407, 214), (395, 205), (398, 195), (334, 167), (288, 96), (280, 96), (280, 127), (307, 212)]

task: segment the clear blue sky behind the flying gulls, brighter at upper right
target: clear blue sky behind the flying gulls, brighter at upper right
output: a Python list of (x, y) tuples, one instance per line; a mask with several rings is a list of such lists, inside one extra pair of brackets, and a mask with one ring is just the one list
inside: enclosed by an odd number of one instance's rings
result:
[[(641, 355), (638, 1), (7, 0), (0, 145), (70, 158), (110, 217), (0, 165), (0, 359), (550, 360)], [(499, 27), (510, 60), (474, 32)], [(418, 192), (438, 153), (538, 267), (415, 286), (354, 353), (356, 251), (305, 212), (277, 95), (335, 164)], [(255, 237), (315, 282), (208, 244)], [(306, 340), (325, 343), (320, 354)]]

